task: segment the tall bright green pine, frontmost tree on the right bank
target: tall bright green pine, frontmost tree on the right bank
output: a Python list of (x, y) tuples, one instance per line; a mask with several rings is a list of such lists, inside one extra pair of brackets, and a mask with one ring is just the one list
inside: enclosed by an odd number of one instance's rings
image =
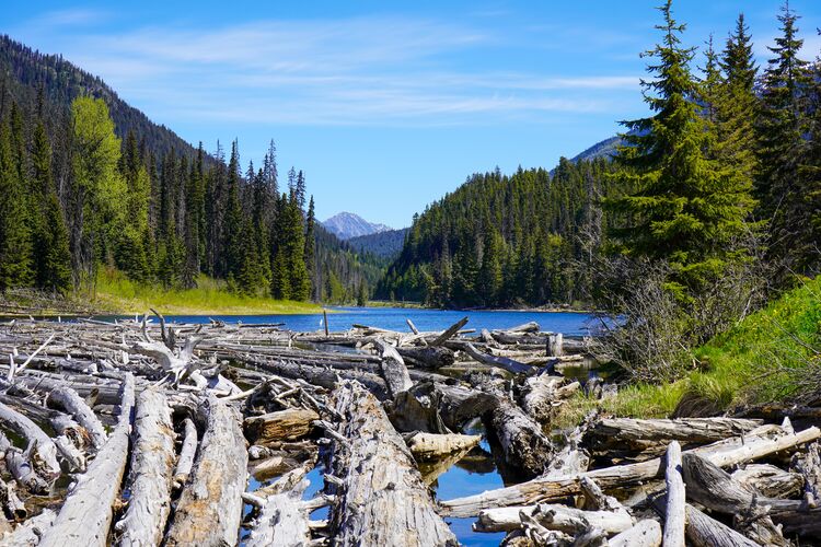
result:
[(617, 156), (631, 171), (616, 179), (637, 190), (605, 205), (622, 216), (613, 235), (623, 252), (668, 260), (674, 271), (669, 288), (686, 298), (721, 275), (753, 202), (742, 176), (705, 156), (708, 136), (689, 69), (693, 49), (681, 46), (685, 25), (673, 20), (671, 1), (660, 10), (662, 42), (645, 54), (658, 60), (648, 66), (656, 79), (643, 83), (655, 115), (625, 123), (634, 132), (623, 136), (627, 146)]

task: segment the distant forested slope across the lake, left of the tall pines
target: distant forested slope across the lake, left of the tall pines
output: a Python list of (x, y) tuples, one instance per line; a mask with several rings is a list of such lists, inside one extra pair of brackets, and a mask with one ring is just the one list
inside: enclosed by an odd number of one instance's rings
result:
[(612, 193), (606, 160), (511, 176), (476, 174), (421, 216), (377, 294), (435, 306), (574, 302), (590, 291), (590, 260)]

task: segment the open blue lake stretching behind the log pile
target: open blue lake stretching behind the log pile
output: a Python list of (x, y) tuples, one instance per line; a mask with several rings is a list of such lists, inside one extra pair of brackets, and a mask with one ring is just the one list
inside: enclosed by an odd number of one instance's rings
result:
[[(467, 316), (464, 328), (505, 329), (535, 321), (542, 330), (563, 333), (569, 336), (587, 335), (595, 329), (595, 319), (590, 315), (569, 312), (493, 312), (493, 311), (444, 311), (409, 307), (333, 307), (328, 309), (328, 329), (347, 330), (352, 324), (390, 330), (409, 331), (405, 319), (409, 318), (419, 330), (443, 330)], [(324, 329), (321, 314), (310, 315), (171, 315), (170, 321), (180, 323), (208, 323), (210, 318), (226, 323), (243, 324), (284, 323), (289, 330), (314, 331)]]

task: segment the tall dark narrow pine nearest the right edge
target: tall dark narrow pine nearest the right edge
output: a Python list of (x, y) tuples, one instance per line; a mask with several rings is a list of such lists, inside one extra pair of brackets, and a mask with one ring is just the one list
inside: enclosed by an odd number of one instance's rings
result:
[(761, 115), (756, 124), (759, 168), (755, 189), (759, 213), (770, 221), (771, 255), (789, 268), (800, 260), (811, 243), (809, 210), (799, 187), (798, 165), (802, 163), (808, 132), (808, 63), (798, 57), (798, 16), (789, 4), (778, 15), (782, 35), (764, 73)]

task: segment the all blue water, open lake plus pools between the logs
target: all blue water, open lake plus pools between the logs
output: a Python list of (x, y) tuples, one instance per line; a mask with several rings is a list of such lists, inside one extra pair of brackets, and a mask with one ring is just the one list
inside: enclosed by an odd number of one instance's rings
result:
[[(469, 322), (464, 328), (506, 329), (523, 323), (534, 321), (542, 330), (563, 333), (570, 336), (588, 335), (595, 331), (595, 319), (587, 314), (569, 312), (516, 312), (516, 311), (442, 311), (418, 310), (406, 307), (334, 307), (328, 313), (329, 330), (347, 330), (351, 325), (362, 324), (391, 330), (409, 331), (406, 319), (414, 322), (419, 330), (442, 330), (464, 316)], [(170, 321), (181, 323), (208, 323), (209, 317), (196, 315), (167, 316)], [(243, 324), (284, 323), (285, 328), (297, 331), (323, 330), (322, 315), (220, 315), (211, 316), (226, 323), (242, 322)], [(481, 431), (466, 431), (478, 434)], [(305, 491), (305, 499), (320, 492), (323, 488), (323, 469), (319, 466), (308, 475), (311, 486)], [(274, 480), (274, 479), (271, 479)], [(269, 481), (266, 481), (266, 484)], [(261, 486), (253, 477), (250, 490)], [(505, 486), (499, 474), (492, 447), (486, 439), (482, 444), (467, 454), (462, 461), (453, 464), (440, 475), (431, 488), (440, 500), (459, 498), (481, 493)], [(245, 508), (250, 510), (248, 507)], [(321, 509), (312, 514), (313, 519), (326, 519), (327, 509)], [(496, 546), (504, 539), (504, 533), (482, 534), (473, 532), (475, 519), (446, 519), (459, 542), (465, 546)], [(243, 534), (244, 538), (244, 534)], [(242, 543), (242, 542), (241, 542)]]

